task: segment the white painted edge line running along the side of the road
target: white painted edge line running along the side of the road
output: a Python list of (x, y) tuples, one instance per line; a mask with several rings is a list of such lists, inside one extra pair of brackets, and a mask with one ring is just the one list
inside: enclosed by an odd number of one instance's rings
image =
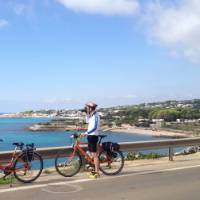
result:
[[(107, 176), (107, 177), (105, 176), (104, 178), (100, 178), (98, 180), (103, 181), (103, 180), (106, 180), (106, 179), (115, 179), (115, 178), (137, 176), (137, 175), (147, 175), (147, 174), (152, 174), (152, 173), (177, 171), (177, 170), (192, 169), (192, 168), (198, 168), (198, 167), (200, 167), (200, 165), (193, 165), (193, 166), (186, 166), (186, 167), (175, 167), (175, 168), (162, 169), (162, 170), (152, 170), (152, 171), (148, 171), (148, 172), (137, 172), (137, 173), (134, 173), (134, 174), (122, 174), (122, 175), (116, 175), (116, 176), (112, 176), (112, 177), (111, 176)], [(88, 182), (88, 181), (94, 181), (94, 179), (80, 179), (80, 180), (73, 180), (73, 181), (64, 181), (64, 182), (57, 182), (57, 183), (47, 183), (47, 184), (39, 184), (39, 185), (32, 185), (32, 186), (22, 186), (22, 187), (16, 187), (16, 188), (0, 189), (0, 193), (37, 189), (37, 188), (43, 188), (43, 187), (48, 187), (48, 186), (54, 186), (54, 185), (83, 183), (83, 182)]]

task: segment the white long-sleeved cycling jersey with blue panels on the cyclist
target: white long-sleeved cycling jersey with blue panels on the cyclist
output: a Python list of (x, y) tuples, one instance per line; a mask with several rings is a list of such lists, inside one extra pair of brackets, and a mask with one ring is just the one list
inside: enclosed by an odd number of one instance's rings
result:
[(93, 115), (90, 117), (89, 115), (86, 116), (86, 123), (88, 123), (88, 129), (86, 134), (87, 135), (99, 135), (99, 128), (100, 128), (100, 117), (97, 112), (94, 112)]

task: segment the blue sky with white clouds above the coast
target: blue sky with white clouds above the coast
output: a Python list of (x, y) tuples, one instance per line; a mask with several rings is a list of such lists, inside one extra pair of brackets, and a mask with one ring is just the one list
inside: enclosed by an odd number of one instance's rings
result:
[(0, 113), (200, 98), (199, 0), (0, 0)]

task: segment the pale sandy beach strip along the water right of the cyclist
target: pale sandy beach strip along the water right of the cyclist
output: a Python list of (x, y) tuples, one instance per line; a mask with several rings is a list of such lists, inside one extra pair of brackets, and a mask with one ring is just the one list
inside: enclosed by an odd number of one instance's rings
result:
[(137, 128), (137, 127), (117, 127), (112, 128), (109, 131), (111, 132), (124, 132), (129, 134), (142, 134), (142, 135), (150, 135), (153, 137), (168, 137), (168, 138), (186, 138), (186, 137), (194, 137), (191, 134), (186, 133), (177, 133), (165, 130), (151, 130), (147, 128)]

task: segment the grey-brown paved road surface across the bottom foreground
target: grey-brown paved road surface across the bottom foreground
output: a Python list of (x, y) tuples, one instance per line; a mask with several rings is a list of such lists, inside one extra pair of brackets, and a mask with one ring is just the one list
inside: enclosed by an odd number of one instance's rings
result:
[(38, 188), (0, 190), (0, 200), (199, 200), (200, 167), (145, 171), (35, 187)]

